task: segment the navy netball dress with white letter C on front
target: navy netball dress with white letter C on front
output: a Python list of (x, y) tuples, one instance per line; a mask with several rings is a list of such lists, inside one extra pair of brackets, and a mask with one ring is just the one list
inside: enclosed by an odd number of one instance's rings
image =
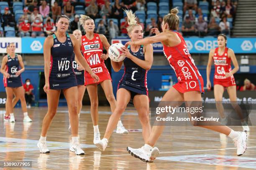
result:
[[(130, 45), (128, 46), (129, 52), (141, 59), (145, 60), (143, 45), (141, 45), (138, 52), (132, 52)], [(147, 95), (148, 96), (148, 87), (147, 87), (147, 70), (141, 68), (131, 59), (125, 58), (123, 60), (124, 64), (124, 73), (122, 79), (119, 81), (118, 89), (125, 88), (131, 92), (131, 99), (136, 94)]]

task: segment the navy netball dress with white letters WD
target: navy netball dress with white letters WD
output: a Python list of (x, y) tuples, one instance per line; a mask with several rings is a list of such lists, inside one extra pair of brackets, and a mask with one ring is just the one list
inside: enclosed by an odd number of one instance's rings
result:
[(73, 44), (68, 34), (65, 42), (59, 42), (54, 34), (54, 45), (51, 47), (51, 65), (49, 87), (54, 90), (77, 86), (76, 76), (72, 67)]

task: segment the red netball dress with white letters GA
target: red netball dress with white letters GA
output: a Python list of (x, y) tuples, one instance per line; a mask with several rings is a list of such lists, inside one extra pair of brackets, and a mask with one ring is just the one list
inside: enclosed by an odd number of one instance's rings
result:
[(222, 85), (223, 87), (229, 87), (236, 85), (234, 76), (226, 77), (225, 73), (231, 71), (231, 58), (228, 57), (228, 47), (225, 47), (223, 55), (218, 54), (217, 47), (214, 51), (213, 60), (215, 65), (215, 73), (213, 84)]

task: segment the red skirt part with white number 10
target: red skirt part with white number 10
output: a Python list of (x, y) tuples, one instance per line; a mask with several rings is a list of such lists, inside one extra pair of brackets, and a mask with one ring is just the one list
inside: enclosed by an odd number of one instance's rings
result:
[(199, 91), (201, 93), (205, 92), (204, 90), (204, 80), (202, 76), (199, 76), (197, 80), (181, 80), (173, 86), (178, 92), (191, 92)]

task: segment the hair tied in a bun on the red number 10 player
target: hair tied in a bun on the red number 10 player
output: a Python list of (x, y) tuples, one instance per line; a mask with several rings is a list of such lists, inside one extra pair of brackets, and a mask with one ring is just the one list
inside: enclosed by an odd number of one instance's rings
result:
[(169, 30), (178, 30), (179, 29), (179, 16), (177, 15), (179, 10), (177, 7), (173, 8), (169, 14), (165, 15), (163, 22), (169, 25)]

